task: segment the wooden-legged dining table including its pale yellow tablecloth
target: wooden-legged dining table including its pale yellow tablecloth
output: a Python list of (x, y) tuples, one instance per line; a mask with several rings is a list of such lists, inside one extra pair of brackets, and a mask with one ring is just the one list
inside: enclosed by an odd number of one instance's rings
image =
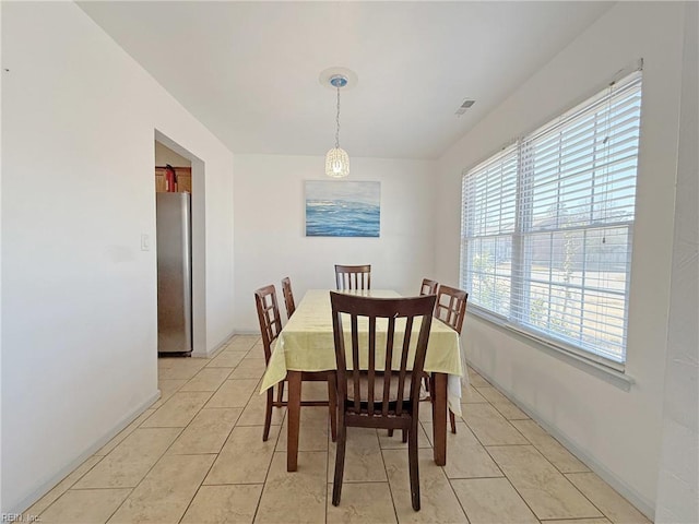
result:
[[(392, 298), (400, 297), (390, 289), (359, 289), (337, 293)], [(416, 329), (415, 326), (414, 329)], [(295, 472), (298, 464), (300, 429), (301, 373), (336, 369), (330, 289), (309, 289), (294, 314), (279, 334), (260, 393), (286, 379), (287, 397), (287, 462), (286, 469)], [(434, 319), (424, 370), (431, 374), (433, 444), (437, 465), (447, 464), (447, 407), (461, 416), (461, 386), (467, 377), (462, 362), (459, 334), (449, 325)]]

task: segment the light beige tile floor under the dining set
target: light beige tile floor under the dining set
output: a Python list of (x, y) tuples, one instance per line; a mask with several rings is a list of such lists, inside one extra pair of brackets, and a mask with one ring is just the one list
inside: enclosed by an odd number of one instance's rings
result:
[[(214, 358), (158, 359), (162, 398), (29, 508), (70, 523), (648, 523), (483, 377), (469, 370), (447, 466), (431, 460), (420, 410), (422, 510), (411, 508), (400, 432), (348, 431), (342, 501), (331, 503), (328, 412), (301, 409), (298, 471), (286, 472), (285, 409), (262, 442), (259, 337)], [(318, 388), (315, 388), (318, 386)], [(327, 394), (305, 384), (305, 397)]]

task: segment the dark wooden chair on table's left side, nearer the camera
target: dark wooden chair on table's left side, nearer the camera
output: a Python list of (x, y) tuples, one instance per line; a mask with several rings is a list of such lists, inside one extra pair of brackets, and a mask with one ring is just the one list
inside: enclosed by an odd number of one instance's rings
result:
[[(282, 331), (282, 319), (280, 308), (276, 300), (276, 289), (274, 285), (261, 287), (254, 291), (254, 303), (258, 311), (258, 320), (260, 321), (260, 333), (262, 335), (262, 346), (264, 348), (264, 364), (269, 364), (272, 357), (272, 345)], [(328, 406), (330, 410), (330, 431), (332, 441), (337, 437), (337, 417), (336, 417), (336, 388), (334, 371), (304, 371), (301, 381), (307, 382), (328, 382), (328, 401), (301, 401), (301, 406)], [(286, 379), (276, 384), (277, 400), (274, 400), (274, 388), (266, 390), (266, 406), (264, 412), (264, 429), (262, 430), (262, 440), (266, 441), (270, 437), (270, 427), (272, 425), (272, 407), (283, 407), (287, 405), (282, 400), (284, 384)]]

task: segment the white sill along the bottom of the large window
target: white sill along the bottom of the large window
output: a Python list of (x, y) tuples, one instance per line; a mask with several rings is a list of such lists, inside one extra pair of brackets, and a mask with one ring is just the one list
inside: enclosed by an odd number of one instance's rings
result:
[(564, 347), (557, 346), (553, 342), (544, 342), (534, 335), (530, 335), (513, 327), (499, 317), (488, 314), (479, 308), (470, 307), (469, 313), (472, 318), (476, 318), (478, 321), (488, 323), (489, 325), (496, 327), (498, 331), (512, 336), (513, 338), (526, 344), (528, 346), (544, 352), (545, 354), (557, 358), (566, 364), (569, 364), (574, 368), (580, 369), (581, 371), (597, 377), (605, 382), (619, 388), (623, 391), (630, 391), (631, 385), (636, 383), (632, 377), (628, 376), (621, 370), (613, 369), (608, 366), (605, 366), (604, 364), (585, 358)]

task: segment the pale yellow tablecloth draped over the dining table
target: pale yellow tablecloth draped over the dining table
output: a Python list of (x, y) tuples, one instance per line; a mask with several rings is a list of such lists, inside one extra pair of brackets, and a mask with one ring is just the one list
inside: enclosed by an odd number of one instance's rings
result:
[[(391, 290), (348, 291), (372, 297), (399, 297)], [(414, 327), (415, 329), (415, 327)], [(287, 370), (327, 371), (335, 369), (332, 313), (328, 289), (310, 289), (284, 326), (262, 378), (261, 392), (284, 380)], [(425, 357), (425, 371), (448, 373), (449, 408), (461, 415), (461, 347), (459, 335), (433, 320)]]

